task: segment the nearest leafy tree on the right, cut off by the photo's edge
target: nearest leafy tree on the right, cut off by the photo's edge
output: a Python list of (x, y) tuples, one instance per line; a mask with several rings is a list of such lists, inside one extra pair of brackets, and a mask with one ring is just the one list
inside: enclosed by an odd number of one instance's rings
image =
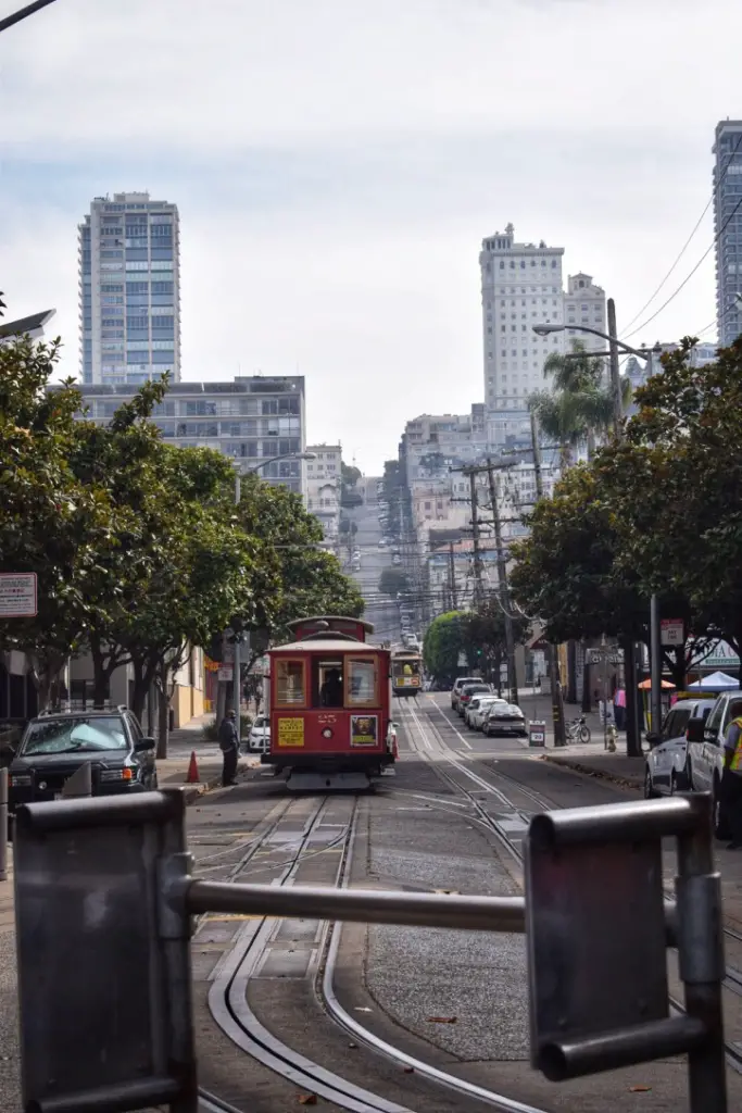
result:
[(646, 594), (686, 599), (695, 632), (721, 632), (742, 657), (742, 339), (703, 367), (691, 364), (694, 343), (663, 357), (636, 392), (625, 444), (598, 465), (623, 565)]

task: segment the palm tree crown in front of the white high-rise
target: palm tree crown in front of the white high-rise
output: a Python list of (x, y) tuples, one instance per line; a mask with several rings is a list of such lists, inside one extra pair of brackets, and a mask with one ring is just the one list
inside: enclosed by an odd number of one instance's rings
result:
[[(562, 467), (568, 467), (575, 451), (585, 445), (587, 459), (595, 452), (597, 437), (613, 422), (613, 397), (604, 386), (603, 361), (591, 355), (582, 341), (572, 342), (572, 353), (552, 353), (544, 364), (544, 377), (552, 377), (552, 391), (538, 391), (528, 407), (538, 417), (544, 434), (562, 445)], [(624, 405), (631, 400), (631, 381), (622, 377)]]

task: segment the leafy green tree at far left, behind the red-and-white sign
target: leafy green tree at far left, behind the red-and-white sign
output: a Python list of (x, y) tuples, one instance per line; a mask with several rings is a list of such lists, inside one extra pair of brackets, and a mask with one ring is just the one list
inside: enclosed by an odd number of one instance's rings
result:
[(0, 622), (0, 640), (29, 656), (41, 708), (107, 602), (95, 584), (115, 520), (106, 485), (69, 463), (80, 396), (69, 383), (47, 394), (59, 351), (30, 337), (0, 345), (0, 567), (38, 578), (38, 614)]

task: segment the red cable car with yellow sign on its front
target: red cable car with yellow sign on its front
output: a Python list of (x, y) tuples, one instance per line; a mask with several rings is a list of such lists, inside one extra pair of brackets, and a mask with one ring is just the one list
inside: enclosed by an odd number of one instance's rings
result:
[(394, 764), (387, 649), (368, 646), (363, 619), (297, 619), (270, 659), (270, 750), (291, 790), (368, 788)]

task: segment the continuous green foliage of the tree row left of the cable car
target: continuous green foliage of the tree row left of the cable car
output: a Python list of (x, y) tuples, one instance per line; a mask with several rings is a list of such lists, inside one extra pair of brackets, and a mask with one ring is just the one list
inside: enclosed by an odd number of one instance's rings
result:
[(32, 657), (41, 688), (87, 651), (97, 699), (130, 662), (140, 703), (235, 618), (279, 636), (305, 613), (362, 613), (300, 496), (253, 475), (236, 508), (226, 457), (164, 442), (149, 418), (167, 380), (99, 425), (78, 420), (71, 381), (48, 391), (58, 358), (58, 341), (0, 345), (0, 568), (36, 572), (39, 598), (0, 644)]

